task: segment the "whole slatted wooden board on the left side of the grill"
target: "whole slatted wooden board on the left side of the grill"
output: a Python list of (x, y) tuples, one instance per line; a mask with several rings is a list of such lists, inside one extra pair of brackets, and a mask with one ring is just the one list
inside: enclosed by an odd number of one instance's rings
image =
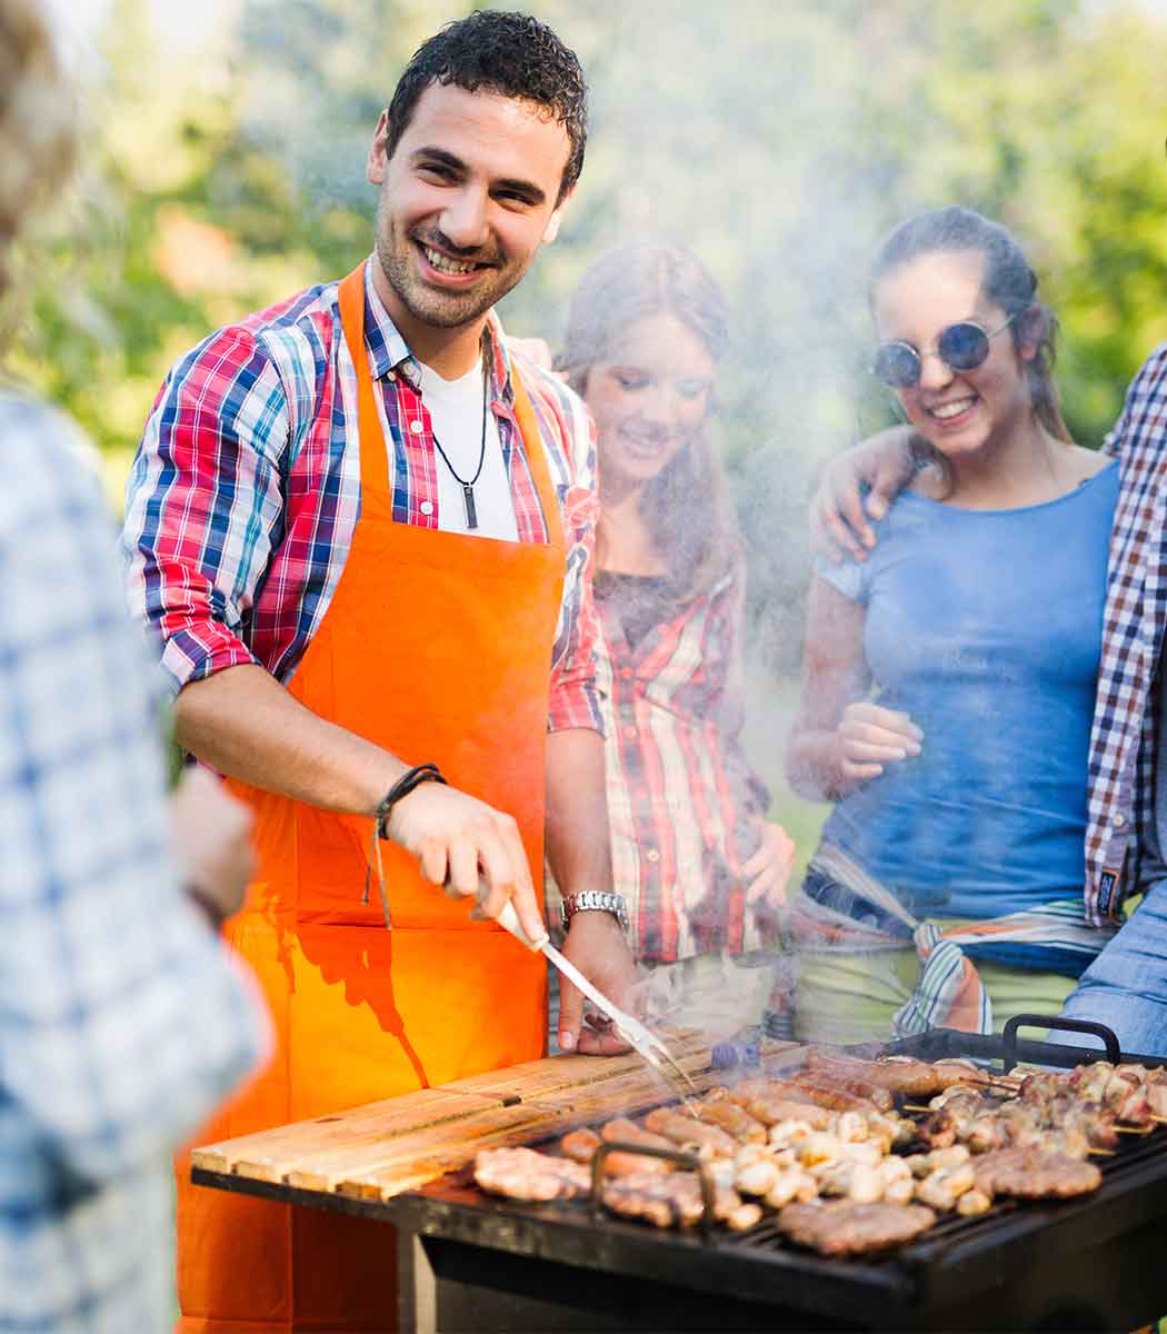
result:
[[(678, 1038), (670, 1046), (699, 1090), (720, 1083), (704, 1042)], [(794, 1043), (767, 1043), (764, 1059), (791, 1050)], [(547, 1057), (204, 1145), (191, 1163), (289, 1189), (389, 1199), (464, 1167), (480, 1149), (531, 1143), (671, 1097), (635, 1054)]]

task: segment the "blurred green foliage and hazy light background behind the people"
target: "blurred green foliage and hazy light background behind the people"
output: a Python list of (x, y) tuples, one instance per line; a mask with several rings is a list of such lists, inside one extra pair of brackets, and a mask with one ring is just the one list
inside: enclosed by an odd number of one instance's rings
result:
[[(468, 8), (237, 0), (195, 53), (160, 40), (164, 7), (112, 0), (77, 197), (33, 237), (16, 351), (104, 451), (112, 494), (176, 356), (367, 252), (376, 115), (415, 47)], [(720, 419), (772, 700), (796, 672), (815, 471), (888, 415), (863, 375), (882, 233), (959, 201), (1022, 236), (1062, 319), (1082, 443), (1167, 338), (1167, 17), (1134, 0), (529, 8), (588, 69), (592, 137), (561, 237), (504, 319), (553, 343), (587, 263), (646, 235), (720, 277), (736, 316)], [(756, 712), (755, 744), (776, 754), (782, 710)]]

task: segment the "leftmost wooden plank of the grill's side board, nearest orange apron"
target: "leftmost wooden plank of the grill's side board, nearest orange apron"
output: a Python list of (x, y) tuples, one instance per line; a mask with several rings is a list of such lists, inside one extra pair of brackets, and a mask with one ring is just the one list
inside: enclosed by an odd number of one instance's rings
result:
[(293, 1167), (329, 1150), (381, 1145), (425, 1127), (473, 1117), (492, 1106), (501, 1106), (496, 1095), (417, 1089), (327, 1117), (203, 1145), (192, 1150), (191, 1162), (208, 1171), (281, 1182)]

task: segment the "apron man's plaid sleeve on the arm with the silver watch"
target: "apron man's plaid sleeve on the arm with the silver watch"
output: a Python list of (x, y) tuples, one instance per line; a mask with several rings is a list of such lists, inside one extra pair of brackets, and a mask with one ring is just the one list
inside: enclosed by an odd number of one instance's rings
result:
[(571, 727), (586, 727), (603, 734), (596, 687), (599, 620), (592, 598), (600, 508), (596, 494), (596, 434), (587, 408), (573, 394), (564, 392), (563, 407), (569, 470), (563, 499), (567, 568), (552, 655), (547, 730), (560, 732)]

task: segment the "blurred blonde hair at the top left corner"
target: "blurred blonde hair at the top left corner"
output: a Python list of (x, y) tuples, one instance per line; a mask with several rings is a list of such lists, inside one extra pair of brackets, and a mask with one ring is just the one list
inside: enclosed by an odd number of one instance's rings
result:
[(76, 104), (39, 0), (0, 0), (0, 299), (12, 243), (68, 179)]

